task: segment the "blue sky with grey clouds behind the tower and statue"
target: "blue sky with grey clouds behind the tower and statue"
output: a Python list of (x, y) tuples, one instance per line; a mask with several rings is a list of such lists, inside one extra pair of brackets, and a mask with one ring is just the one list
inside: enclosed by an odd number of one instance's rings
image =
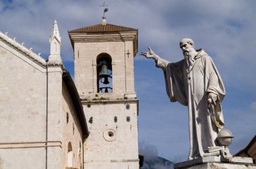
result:
[[(73, 74), (73, 50), (67, 31), (101, 23), (104, 1), (0, 0), (0, 31), (49, 56), (49, 36), (57, 19), (61, 56)], [(139, 52), (148, 46), (166, 60), (183, 59), (182, 38), (212, 56), (226, 87), (222, 103), (225, 128), (234, 140), (232, 154), (245, 148), (256, 131), (256, 1), (254, 0), (106, 0), (107, 22), (139, 30)], [(139, 143), (174, 162), (187, 160), (187, 107), (170, 103), (162, 70), (154, 61), (135, 57), (139, 98)]]

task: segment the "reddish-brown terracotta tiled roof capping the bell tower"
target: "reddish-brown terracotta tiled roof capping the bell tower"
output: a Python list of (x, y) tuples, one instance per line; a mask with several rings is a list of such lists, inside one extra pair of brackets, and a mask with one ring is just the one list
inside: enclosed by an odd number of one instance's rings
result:
[(123, 27), (119, 25), (112, 25), (112, 24), (98, 24), (98, 25), (91, 25), (88, 27), (82, 27), (79, 29), (71, 30), (70, 33), (83, 33), (83, 32), (128, 32), (128, 31), (137, 31), (131, 27)]

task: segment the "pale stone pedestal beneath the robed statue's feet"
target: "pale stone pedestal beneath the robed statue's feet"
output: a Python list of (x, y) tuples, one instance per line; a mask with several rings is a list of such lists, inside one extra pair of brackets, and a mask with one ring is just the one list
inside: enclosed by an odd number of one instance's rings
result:
[(228, 169), (228, 168), (236, 168), (236, 169), (256, 169), (256, 165), (253, 164), (252, 158), (243, 158), (243, 157), (233, 157), (230, 162), (226, 160), (216, 157), (204, 157), (198, 158), (195, 160), (189, 160), (186, 162), (179, 162), (174, 164), (175, 169), (188, 168), (188, 169)]

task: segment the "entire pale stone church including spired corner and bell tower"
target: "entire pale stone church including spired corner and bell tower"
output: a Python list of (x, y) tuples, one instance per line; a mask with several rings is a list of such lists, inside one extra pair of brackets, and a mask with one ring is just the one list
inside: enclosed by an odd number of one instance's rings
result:
[(75, 82), (55, 21), (49, 60), (0, 32), (0, 168), (139, 168), (137, 30), (69, 31)]

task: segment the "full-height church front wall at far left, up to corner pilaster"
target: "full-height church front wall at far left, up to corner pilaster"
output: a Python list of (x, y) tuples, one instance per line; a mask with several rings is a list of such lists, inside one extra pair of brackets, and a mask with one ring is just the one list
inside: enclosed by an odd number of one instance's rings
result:
[(0, 168), (45, 168), (45, 68), (1, 41), (0, 56)]

